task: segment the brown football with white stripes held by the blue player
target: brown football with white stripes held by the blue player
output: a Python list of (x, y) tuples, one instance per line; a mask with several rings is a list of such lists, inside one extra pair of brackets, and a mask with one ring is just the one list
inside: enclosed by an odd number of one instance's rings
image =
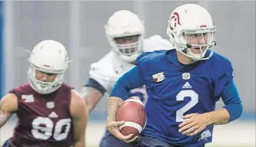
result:
[(134, 137), (144, 129), (147, 116), (145, 113), (145, 106), (138, 99), (138, 97), (132, 96), (128, 100), (125, 100), (121, 106), (119, 106), (117, 121), (125, 121), (124, 125), (119, 127), (120, 132), (124, 136), (133, 134)]

